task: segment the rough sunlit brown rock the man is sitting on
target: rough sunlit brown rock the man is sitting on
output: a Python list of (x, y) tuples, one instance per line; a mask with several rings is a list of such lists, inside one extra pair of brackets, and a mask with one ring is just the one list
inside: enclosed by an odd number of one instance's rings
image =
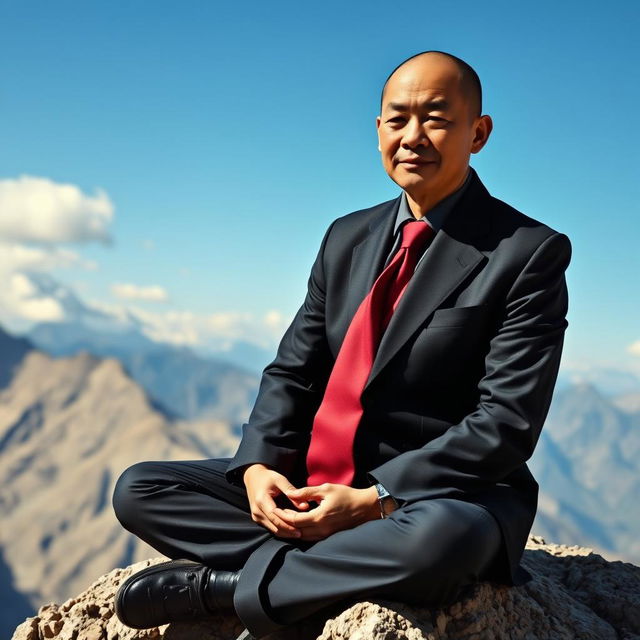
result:
[[(115, 569), (61, 607), (41, 607), (13, 640), (233, 640), (240, 634), (234, 615), (143, 631), (120, 624), (113, 615), (118, 585), (161, 561)], [(530, 536), (523, 565), (533, 579), (520, 587), (479, 583), (442, 609), (378, 599), (342, 603), (269, 640), (640, 640), (640, 567), (540, 536)]]

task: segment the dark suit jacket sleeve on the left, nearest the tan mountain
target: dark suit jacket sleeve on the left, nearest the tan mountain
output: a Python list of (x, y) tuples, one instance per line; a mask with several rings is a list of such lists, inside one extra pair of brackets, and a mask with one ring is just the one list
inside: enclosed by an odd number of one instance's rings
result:
[(324, 252), (329, 227), (311, 268), (307, 294), (285, 332), (275, 359), (262, 374), (258, 397), (242, 440), (226, 471), (229, 482), (242, 486), (241, 473), (249, 464), (268, 465), (285, 476), (306, 452), (313, 417), (331, 372), (332, 356), (325, 332)]

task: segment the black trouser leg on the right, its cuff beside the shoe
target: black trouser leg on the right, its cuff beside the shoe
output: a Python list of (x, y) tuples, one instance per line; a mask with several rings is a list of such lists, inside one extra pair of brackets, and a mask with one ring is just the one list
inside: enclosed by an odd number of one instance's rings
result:
[(307, 549), (265, 544), (249, 558), (234, 604), (256, 637), (348, 598), (440, 606), (482, 579), (500, 545), (499, 525), (484, 508), (420, 501)]

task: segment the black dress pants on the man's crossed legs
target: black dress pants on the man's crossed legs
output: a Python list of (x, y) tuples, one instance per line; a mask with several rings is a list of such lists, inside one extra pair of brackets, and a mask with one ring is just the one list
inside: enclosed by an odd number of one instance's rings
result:
[(234, 606), (257, 638), (343, 599), (446, 605), (482, 580), (502, 544), (489, 511), (450, 498), (317, 542), (277, 538), (251, 519), (244, 488), (227, 482), (229, 460), (138, 463), (120, 476), (113, 506), (169, 558), (242, 569)]

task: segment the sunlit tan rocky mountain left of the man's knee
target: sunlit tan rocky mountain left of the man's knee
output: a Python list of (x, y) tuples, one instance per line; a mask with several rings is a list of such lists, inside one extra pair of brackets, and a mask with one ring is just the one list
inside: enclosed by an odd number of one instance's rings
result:
[(25, 598), (34, 608), (64, 600), (154, 553), (111, 509), (127, 466), (229, 456), (236, 446), (226, 422), (172, 420), (114, 359), (27, 352), (0, 391), (4, 626), (24, 615)]

